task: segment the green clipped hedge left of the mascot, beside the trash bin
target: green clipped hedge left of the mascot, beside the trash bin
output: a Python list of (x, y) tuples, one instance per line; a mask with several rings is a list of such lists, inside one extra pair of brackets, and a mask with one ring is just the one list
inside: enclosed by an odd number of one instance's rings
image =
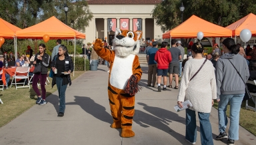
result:
[[(72, 57), (74, 61), (74, 57)], [(75, 57), (75, 71), (89, 71), (90, 70), (90, 62), (88, 59), (83, 57)]]

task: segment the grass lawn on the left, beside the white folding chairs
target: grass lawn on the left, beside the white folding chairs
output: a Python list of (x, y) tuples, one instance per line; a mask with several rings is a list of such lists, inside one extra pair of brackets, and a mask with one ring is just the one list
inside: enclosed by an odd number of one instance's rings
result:
[[(75, 76), (71, 75), (71, 80), (77, 78), (85, 71), (75, 71)], [(53, 92), (57, 90), (56, 85), (51, 88), (51, 78), (49, 78), (50, 84), (45, 85), (46, 88), (46, 96), (49, 96)], [(10, 80), (11, 81), (11, 80)], [(11, 120), (15, 119), (17, 116), (28, 110), (32, 106), (35, 105), (35, 100), (37, 96), (35, 91), (32, 88), (15, 88), (15, 86), (11, 86), (11, 88), (5, 89), (4, 91), (0, 90), (0, 98), (3, 101), (3, 104), (0, 104), (0, 127), (4, 126)]]

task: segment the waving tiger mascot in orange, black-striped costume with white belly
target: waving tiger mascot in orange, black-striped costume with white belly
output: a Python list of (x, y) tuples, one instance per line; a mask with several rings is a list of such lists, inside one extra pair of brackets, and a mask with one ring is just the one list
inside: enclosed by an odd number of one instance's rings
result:
[(103, 48), (101, 39), (96, 39), (93, 45), (99, 57), (110, 64), (108, 95), (113, 116), (111, 128), (121, 128), (121, 136), (126, 138), (135, 136), (132, 130), (135, 95), (125, 92), (125, 87), (131, 76), (136, 82), (141, 79), (142, 71), (137, 56), (141, 35), (142, 31), (133, 32), (117, 28), (113, 39), (113, 51)]

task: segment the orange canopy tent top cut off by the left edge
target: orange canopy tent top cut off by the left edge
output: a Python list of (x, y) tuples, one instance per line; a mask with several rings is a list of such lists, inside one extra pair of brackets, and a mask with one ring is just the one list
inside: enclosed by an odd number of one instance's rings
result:
[(15, 32), (18, 30), (21, 29), (0, 18), (0, 37), (13, 39), (15, 37)]

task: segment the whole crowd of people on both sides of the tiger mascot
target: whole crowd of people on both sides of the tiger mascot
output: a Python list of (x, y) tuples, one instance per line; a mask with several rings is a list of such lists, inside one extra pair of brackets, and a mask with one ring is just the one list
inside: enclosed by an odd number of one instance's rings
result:
[[(70, 73), (73, 72), (73, 61), (69, 57), (67, 47), (61, 45), (61, 39), (56, 41), (57, 46), (53, 48), (51, 57), (45, 53), (45, 45), (39, 45), (39, 53), (35, 54), (33, 67), (40, 68), (33, 72), (33, 90), (37, 94), (36, 104), (46, 104), (45, 81), (47, 79), (48, 69), (51, 67), (53, 72), (52, 87), (57, 84), (59, 92), (59, 113), (58, 116), (64, 116), (65, 113), (65, 91), (67, 85), (71, 85)], [(104, 43), (106, 49), (112, 49), (111, 45)], [(186, 113), (186, 133), (185, 139), (191, 144), (195, 144), (197, 138), (196, 115), (198, 113), (200, 122), (201, 144), (213, 144), (211, 122), (209, 116), (213, 100), (219, 103), (219, 135), (216, 140), (228, 138), (228, 144), (235, 144), (239, 140), (239, 112), (241, 102), (245, 95), (245, 83), (248, 79), (256, 79), (256, 45), (250, 50), (249, 46), (241, 49), (239, 44), (231, 38), (223, 40), (223, 55), (219, 45), (213, 46), (213, 58), (209, 61), (203, 57), (204, 47), (201, 43), (189, 43), (187, 49), (187, 61), (184, 60), (185, 49), (181, 46), (181, 41), (171, 40), (171, 47), (168, 49), (168, 43), (161, 43), (158, 49), (157, 41), (152, 43), (152, 47), (145, 49), (148, 63), (148, 81), (147, 86), (155, 87), (157, 91), (167, 90), (169, 88), (179, 89), (177, 104), (183, 108), (185, 100), (189, 100), (193, 106), (185, 110)], [(29, 49), (29, 47), (28, 47)], [(100, 60), (99, 64), (108, 65), (104, 59), (101, 59), (90, 46), (82, 48), (83, 55), (87, 59)], [(96, 55), (94, 56), (93, 53)], [(247, 56), (251, 56), (249, 67)], [(51, 65), (50, 64), (51, 58)], [(190, 59), (189, 59), (190, 58)], [(183, 62), (185, 61), (185, 63)], [(25, 63), (30, 63), (26, 55), (21, 55), (15, 61), (15, 66), (21, 67)], [(0, 56), (0, 71), (3, 68), (3, 57)], [(167, 76), (169, 74), (169, 85), (167, 86)], [(5, 74), (7, 84), (10, 76)], [(172, 86), (173, 76), (175, 86)], [(1, 77), (1, 73), (0, 73)], [(161, 89), (161, 78), (163, 77), (163, 89)], [(181, 77), (179, 85), (179, 77)], [(203, 79), (202, 79), (203, 78)], [(37, 87), (40, 81), (41, 91)], [(256, 91), (256, 90), (255, 90)], [(230, 127), (227, 128), (227, 104), (230, 104)], [(228, 133), (227, 133), (228, 132)]]

